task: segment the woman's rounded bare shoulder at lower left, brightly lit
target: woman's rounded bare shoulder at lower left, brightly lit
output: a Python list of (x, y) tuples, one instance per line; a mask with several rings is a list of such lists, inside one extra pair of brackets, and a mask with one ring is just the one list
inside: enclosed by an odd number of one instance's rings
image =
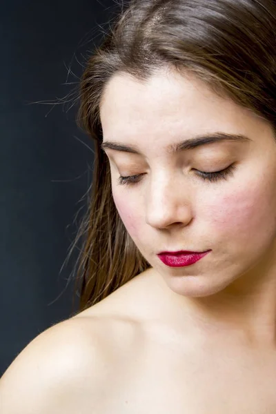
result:
[(76, 413), (88, 388), (96, 406), (115, 355), (112, 324), (99, 319), (71, 318), (35, 337), (1, 377), (1, 414)]

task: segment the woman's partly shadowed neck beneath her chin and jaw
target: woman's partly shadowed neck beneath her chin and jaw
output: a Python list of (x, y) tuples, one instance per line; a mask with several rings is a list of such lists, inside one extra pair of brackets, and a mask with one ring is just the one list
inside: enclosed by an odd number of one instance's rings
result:
[[(170, 325), (195, 328), (250, 346), (276, 348), (276, 264), (259, 263), (223, 290), (205, 297), (179, 295), (155, 270), (160, 311)], [(152, 273), (152, 276), (153, 276)], [(157, 280), (156, 279), (156, 280)]]

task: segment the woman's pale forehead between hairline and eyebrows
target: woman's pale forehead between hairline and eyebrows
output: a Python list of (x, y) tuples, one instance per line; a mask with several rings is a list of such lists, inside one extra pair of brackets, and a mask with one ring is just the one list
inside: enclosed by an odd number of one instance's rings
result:
[[(219, 97), (193, 75), (159, 72), (146, 83), (117, 74), (106, 85), (100, 106), (103, 140), (133, 144), (158, 139), (226, 133), (250, 135), (262, 121), (250, 110)], [(261, 124), (260, 124), (261, 123)]]

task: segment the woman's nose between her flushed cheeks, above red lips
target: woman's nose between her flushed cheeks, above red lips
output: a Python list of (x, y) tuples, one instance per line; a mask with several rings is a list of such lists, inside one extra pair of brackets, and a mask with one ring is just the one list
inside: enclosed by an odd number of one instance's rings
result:
[(191, 193), (181, 181), (159, 179), (152, 182), (146, 196), (146, 223), (155, 228), (172, 224), (187, 226), (193, 219)]

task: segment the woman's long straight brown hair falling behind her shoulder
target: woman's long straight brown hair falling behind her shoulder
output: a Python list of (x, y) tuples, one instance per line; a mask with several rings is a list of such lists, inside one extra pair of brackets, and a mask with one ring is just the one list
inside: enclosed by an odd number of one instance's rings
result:
[(77, 124), (95, 148), (90, 204), (75, 242), (83, 243), (79, 312), (150, 267), (117, 213), (100, 147), (99, 106), (108, 81), (118, 72), (144, 82), (160, 68), (190, 71), (275, 128), (275, 29), (274, 0), (132, 0), (118, 14), (79, 85)]

